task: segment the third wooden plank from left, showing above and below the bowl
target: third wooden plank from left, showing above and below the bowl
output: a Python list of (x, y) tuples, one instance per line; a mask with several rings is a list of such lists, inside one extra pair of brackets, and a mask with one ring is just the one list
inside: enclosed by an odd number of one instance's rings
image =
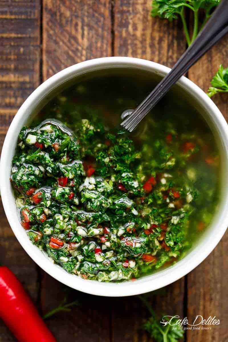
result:
[[(145, 58), (172, 67), (185, 51), (182, 26), (150, 16), (147, 0), (116, 0), (114, 3), (114, 55)], [(184, 314), (184, 278), (153, 296), (153, 308), (160, 313)], [(112, 302), (112, 341), (147, 341), (140, 330), (149, 314), (134, 297)]]

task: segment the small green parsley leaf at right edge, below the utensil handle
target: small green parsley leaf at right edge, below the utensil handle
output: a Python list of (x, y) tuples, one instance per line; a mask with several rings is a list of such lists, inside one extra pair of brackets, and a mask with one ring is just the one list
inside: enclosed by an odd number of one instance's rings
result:
[(211, 85), (207, 90), (207, 95), (212, 97), (217, 93), (227, 93), (228, 92), (228, 68), (224, 69), (222, 64), (220, 64), (216, 75), (211, 80)]

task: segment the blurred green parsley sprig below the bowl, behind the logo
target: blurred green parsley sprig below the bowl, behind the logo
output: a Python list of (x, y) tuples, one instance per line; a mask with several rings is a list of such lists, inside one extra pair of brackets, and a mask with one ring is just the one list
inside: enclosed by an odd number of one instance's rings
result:
[[(166, 320), (163, 315), (161, 319), (157, 318), (155, 311), (152, 309), (148, 301), (147, 295), (137, 296), (147, 307), (151, 317), (146, 321), (143, 328), (151, 334), (151, 337), (157, 342), (178, 342), (184, 337), (184, 330), (177, 323), (177, 319), (172, 318), (172, 325), (170, 320)], [(161, 324), (163, 322), (163, 325)], [(175, 327), (175, 329), (173, 329)]]

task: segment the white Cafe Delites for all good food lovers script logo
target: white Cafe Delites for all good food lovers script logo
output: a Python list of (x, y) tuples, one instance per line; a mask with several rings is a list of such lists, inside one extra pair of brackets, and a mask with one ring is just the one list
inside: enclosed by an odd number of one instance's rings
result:
[(163, 326), (169, 324), (173, 330), (211, 330), (212, 326), (219, 325), (220, 321), (216, 316), (204, 318), (202, 315), (196, 315), (196, 318), (192, 322), (189, 322), (187, 317), (180, 319), (178, 315), (166, 315), (162, 317), (160, 323)]

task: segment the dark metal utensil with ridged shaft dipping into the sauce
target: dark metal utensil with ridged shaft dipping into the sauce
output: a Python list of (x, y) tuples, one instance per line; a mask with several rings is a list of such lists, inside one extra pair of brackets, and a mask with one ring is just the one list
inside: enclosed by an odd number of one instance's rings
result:
[(212, 14), (195, 41), (179, 58), (172, 70), (152, 90), (145, 100), (120, 126), (132, 132), (147, 113), (188, 69), (195, 64), (220, 38), (228, 33), (228, 0), (223, 0)]

